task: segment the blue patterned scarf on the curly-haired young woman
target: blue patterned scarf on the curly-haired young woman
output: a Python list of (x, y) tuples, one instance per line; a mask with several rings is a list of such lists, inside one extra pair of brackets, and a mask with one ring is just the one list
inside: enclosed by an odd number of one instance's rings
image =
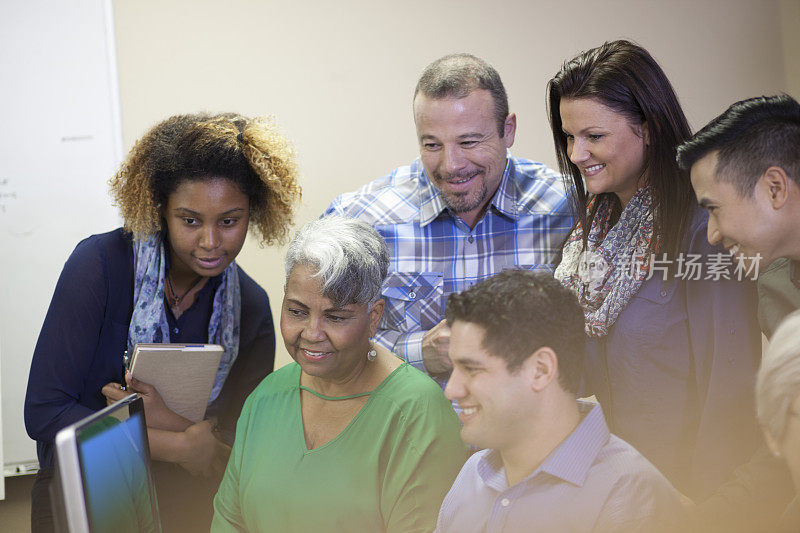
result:
[[(136, 265), (133, 283), (133, 316), (128, 327), (128, 352), (140, 342), (169, 342), (169, 324), (164, 302), (165, 251), (162, 234), (145, 241), (134, 241)], [(208, 323), (208, 340), (223, 347), (222, 359), (214, 378), (208, 403), (219, 396), (225, 378), (239, 354), (239, 320), (242, 311), (239, 272), (236, 263), (222, 272), (222, 282), (214, 294), (214, 306)]]

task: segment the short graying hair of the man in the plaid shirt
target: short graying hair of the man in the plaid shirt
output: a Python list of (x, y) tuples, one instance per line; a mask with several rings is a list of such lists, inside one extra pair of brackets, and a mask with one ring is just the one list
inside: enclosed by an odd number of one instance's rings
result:
[(429, 98), (465, 98), (475, 89), (485, 89), (492, 95), (497, 119), (497, 131), (505, 134), (508, 116), (508, 96), (500, 74), (489, 63), (471, 54), (450, 54), (425, 67), (414, 98), (422, 93)]

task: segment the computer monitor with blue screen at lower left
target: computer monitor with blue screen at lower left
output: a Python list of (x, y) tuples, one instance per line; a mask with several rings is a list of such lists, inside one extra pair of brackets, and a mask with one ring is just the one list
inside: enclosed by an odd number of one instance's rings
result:
[(63, 513), (55, 513), (63, 521), (60, 529), (161, 532), (144, 404), (137, 395), (59, 431), (56, 458), (61, 495), (54, 503), (63, 504)]

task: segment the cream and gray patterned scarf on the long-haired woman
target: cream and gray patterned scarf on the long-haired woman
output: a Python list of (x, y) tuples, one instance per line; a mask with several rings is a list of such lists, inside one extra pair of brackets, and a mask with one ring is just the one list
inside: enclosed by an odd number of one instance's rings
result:
[[(589, 208), (597, 201), (597, 196), (592, 198)], [(608, 334), (647, 278), (654, 238), (652, 205), (650, 189), (640, 188), (611, 227), (611, 202), (603, 202), (589, 228), (586, 249), (580, 224), (564, 245), (555, 277), (578, 296), (590, 337)]]

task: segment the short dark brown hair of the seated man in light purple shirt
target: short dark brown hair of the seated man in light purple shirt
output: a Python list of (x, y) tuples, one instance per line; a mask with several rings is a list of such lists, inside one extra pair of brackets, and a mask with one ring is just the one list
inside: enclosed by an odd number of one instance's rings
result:
[(483, 348), (505, 359), (510, 372), (539, 348), (552, 348), (559, 383), (577, 393), (586, 349), (583, 311), (575, 294), (552, 275), (504, 270), (451, 294), (445, 314), (450, 326), (456, 320), (481, 326)]

